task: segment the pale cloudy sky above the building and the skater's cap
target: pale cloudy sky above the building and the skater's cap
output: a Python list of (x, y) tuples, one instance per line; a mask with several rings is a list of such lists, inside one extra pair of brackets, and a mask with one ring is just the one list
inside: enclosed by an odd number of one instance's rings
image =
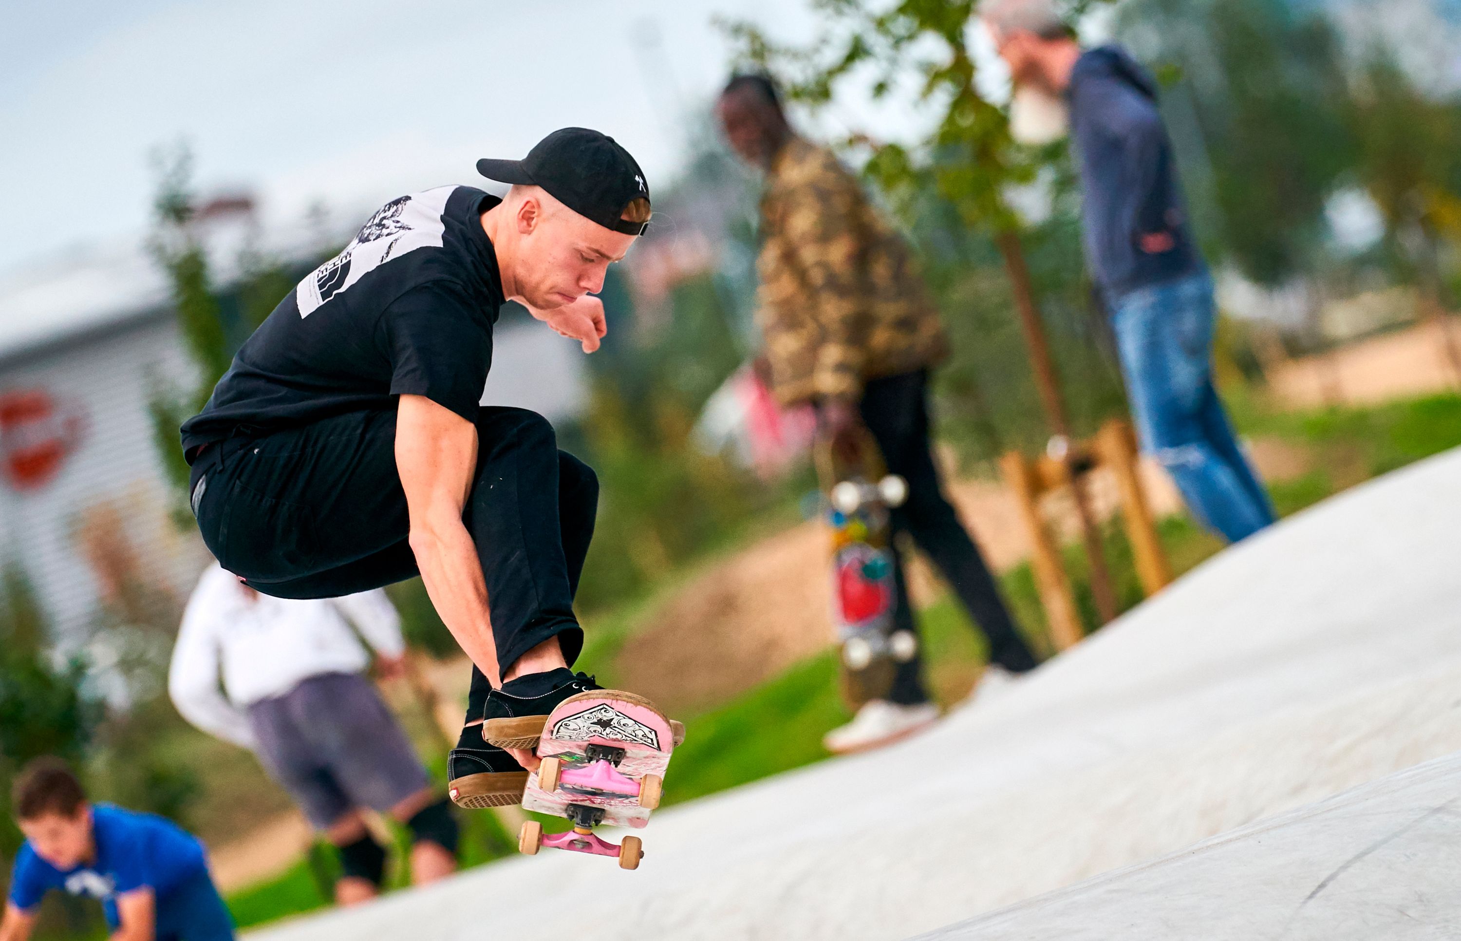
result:
[(804, 0), (0, 0), (0, 276), (140, 238), (180, 142), (266, 225), (473, 183), (574, 124), (653, 188), (726, 77), (714, 15), (815, 29)]

